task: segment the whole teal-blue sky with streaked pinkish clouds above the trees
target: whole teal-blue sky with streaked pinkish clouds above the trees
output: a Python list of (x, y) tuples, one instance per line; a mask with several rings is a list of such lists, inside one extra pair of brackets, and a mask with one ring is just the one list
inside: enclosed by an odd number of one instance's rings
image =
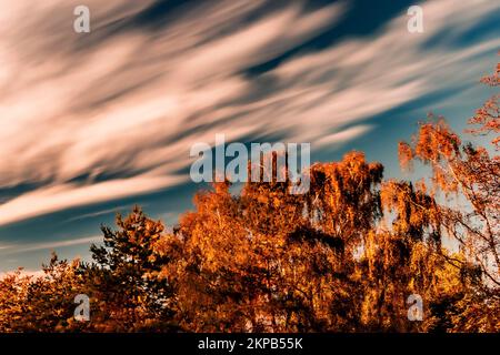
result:
[(407, 179), (398, 142), (429, 112), (463, 130), (490, 94), (499, 23), (493, 0), (0, 0), (0, 272), (88, 258), (134, 204), (174, 224), (216, 134)]

